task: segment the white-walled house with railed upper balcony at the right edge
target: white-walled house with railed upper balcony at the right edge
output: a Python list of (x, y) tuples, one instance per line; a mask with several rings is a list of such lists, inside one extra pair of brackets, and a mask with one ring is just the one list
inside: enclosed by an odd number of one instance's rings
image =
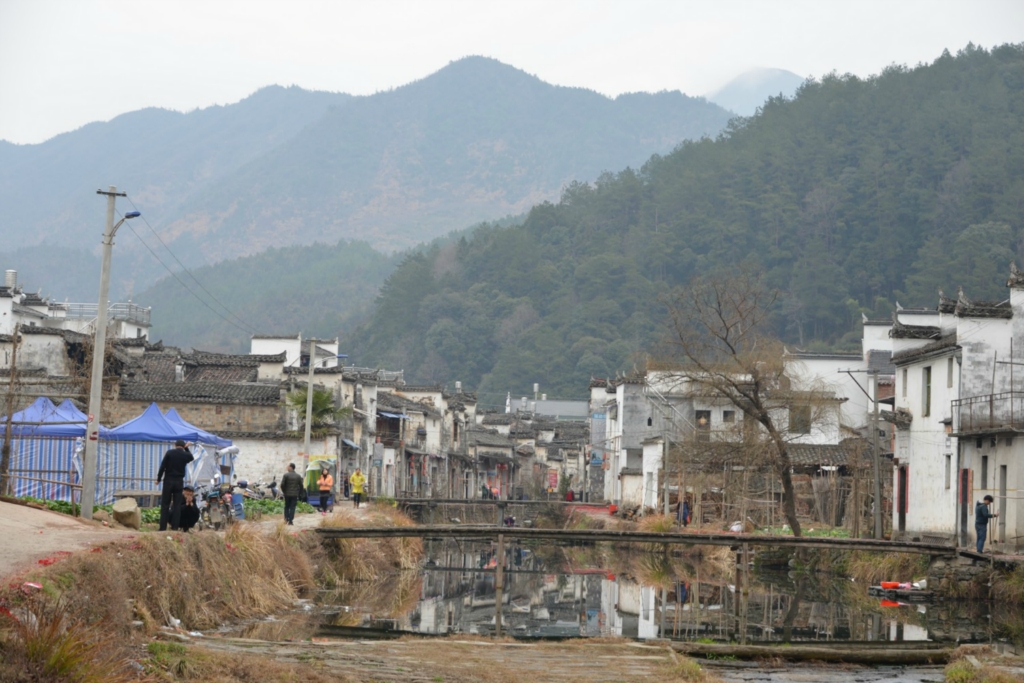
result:
[[(985, 495), (999, 514), (989, 540), (1024, 547), (1024, 392), (1016, 347), (1024, 337), (1024, 276), (1011, 267), (1009, 298), (939, 296), (921, 324), (893, 323), (896, 426), (893, 536), (975, 542), (974, 507)], [(916, 321), (915, 321), (916, 322)], [(1015, 341), (1017, 342), (1015, 344)]]

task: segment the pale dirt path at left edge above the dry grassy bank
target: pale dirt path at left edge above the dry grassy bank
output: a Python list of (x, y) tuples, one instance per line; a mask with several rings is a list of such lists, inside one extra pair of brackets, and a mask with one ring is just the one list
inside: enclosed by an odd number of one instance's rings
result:
[(135, 531), (110, 528), (59, 512), (0, 502), (0, 578), (30, 569), (57, 553), (85, 550), (132, 533)]

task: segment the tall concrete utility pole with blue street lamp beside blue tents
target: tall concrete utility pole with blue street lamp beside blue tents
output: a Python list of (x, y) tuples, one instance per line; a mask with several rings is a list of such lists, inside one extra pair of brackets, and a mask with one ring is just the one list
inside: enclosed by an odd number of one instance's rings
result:
[(99, 445), (99, 412), (103, 390), (103, 356), (106, 348), (106, 297), (111, 289), (111, 252), (114, 236), (126, 220), (138, 218), (138, 211), (129, 211), (114, 223), (114, 204), (118, 197), (126, 197), (118, 188), (97, 189), (106, 196), (106, 229), (103, 231), (103, 263), (99, 270), (99, 299), (96, 303), (96, 334), (92, 342), (92, 379), (89, 383), (89, 422), (85, 427), (85, 454), (82, 459), (82, 517), (92, 519), (92, 506), (96, 502), (96, 459)]

